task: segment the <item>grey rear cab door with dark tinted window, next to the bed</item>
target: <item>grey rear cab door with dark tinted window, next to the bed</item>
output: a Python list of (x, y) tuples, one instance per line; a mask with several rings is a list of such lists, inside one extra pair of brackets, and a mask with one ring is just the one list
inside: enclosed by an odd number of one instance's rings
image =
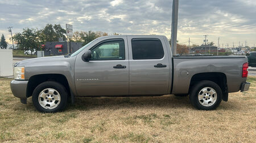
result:
[(129, 45), (129, 94), (167, 94), (170, 71), (164, 38), (127, 37)]

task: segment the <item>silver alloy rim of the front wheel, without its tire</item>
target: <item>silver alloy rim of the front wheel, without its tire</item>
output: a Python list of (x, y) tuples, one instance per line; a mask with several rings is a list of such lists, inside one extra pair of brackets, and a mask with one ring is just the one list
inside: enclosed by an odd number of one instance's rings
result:
[(55, 109), (60, 104), (60, 93), (53, 88), (46, 88), (39, 93), (38, 102), (44, 109)]

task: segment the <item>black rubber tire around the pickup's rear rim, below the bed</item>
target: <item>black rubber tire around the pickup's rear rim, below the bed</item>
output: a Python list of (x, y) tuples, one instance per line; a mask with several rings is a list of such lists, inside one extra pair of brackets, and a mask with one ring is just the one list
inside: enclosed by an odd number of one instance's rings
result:
[[(202, 102), (204, 102), (206, 99), (208, 99), (208, 95), (206, 95), (207, 98), (205, 99), (205, 94), (203, 94), (202, 93), (203, 91), (201, 91), (201, 90), (203, 90), (204, 88), (207, 88), (207, 87), (209, 87), (209, 89), (207, 89), (207, 90), (210, 90), (210, 88), (215, 90), (216, 94), (213, 94), (212, 97), (215, 97), (215, 98), (217, 97), (217, 99), (215, 99), (215, 102), (208, 101), (208, 103), (209, 104), (212, 103), (212, 105), (203, 106)], [(200, 91), (201, 91), (201, 93), (199, 93)], [(199, 94), (201, 94), (201, 96), (203, 96), (204, 99), (200, 100), (199, 99)], [(199, 110), (214, 110), (220, 105), (220, 103), (222, 101), (222, 91), (221, 91), (220, 86), (218, 86), (213, 81), (203, 80), (203, 81), (200, 81), (199, 83), (197, 83), (196, 85), (192, 86), (191, 91), (189, 92), (189, 100), (190, 100), (191, 104), (194, 107), (196, 107), (196, 109), (199, 109)], [(205, 101), (205, 102), (207, 102), (207, 101)]]

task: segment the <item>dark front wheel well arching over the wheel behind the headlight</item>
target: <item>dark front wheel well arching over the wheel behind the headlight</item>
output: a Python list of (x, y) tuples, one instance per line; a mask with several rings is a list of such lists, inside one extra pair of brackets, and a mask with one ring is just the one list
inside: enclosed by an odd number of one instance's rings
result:
[(27, 95), (26, 96), (27, 97), (32, 96), (32, 93), (33, 93), (34, 89), (36, 88), (36, 86), (43, 83), (44, 81), (56, 81), (56, 82), (64, 85), (68, 91), (68, 94), (70, 93), (68, 80), (64, 75), (42, 74), (42, 75), (34, 75), (34, 76), (30, 77), (30, 79), (28, 80), (28, 84), (27, 84)]

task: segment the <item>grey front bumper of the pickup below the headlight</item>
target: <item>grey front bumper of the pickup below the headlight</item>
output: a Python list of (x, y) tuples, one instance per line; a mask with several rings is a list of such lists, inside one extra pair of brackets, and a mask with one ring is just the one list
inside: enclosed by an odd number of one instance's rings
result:
[(20, 98), (20, 101), (27, 99), (27, 80), (13, 80), (11, 81), (11, 92), (15, 97)]

